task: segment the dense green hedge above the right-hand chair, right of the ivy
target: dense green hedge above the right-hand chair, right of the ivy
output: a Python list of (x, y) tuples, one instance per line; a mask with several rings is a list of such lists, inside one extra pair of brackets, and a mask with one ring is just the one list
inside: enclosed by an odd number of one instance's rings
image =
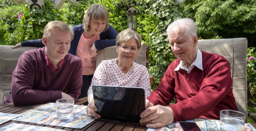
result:
[(245, 37), (248, 47), (255, 47), (256, 0), (187, 0), (185, 4), (196, 21), (199, 37)]

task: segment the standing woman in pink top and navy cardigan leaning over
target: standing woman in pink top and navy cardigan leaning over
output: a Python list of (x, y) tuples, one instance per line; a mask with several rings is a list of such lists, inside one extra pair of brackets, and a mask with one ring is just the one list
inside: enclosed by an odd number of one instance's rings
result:
[[(72, 27), (75, 35), (68, 53), (78, 56), (83, 64), (83, 86), (78, 99), (87, 97), (87, 91), (96, 70), (98, 50), (116, 45), (118, 32), (108, 23), (108, 18), (107, 9), (102, 5), (94, 4), (85, 11), (83, 24)], [(21, 46), (44, 47), (44, 44), (42, 39), (28, 40), (12, 48)]]

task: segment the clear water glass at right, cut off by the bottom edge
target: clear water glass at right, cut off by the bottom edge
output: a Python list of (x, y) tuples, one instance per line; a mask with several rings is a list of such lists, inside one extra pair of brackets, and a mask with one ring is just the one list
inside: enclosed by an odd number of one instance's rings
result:
[(220, 131), (244, 131), (245, 114), (235, 110), (220, 111)]

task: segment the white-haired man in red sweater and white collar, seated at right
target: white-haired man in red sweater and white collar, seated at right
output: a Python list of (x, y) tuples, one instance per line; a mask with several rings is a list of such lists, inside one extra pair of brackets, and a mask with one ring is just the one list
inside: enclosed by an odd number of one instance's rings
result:
[[(238, 110), (230, 64), (223, 56), (197, 48), (196, 23), (189, 18), (178, 19), (166, 31), (177, 59), (147, 98), (140, 124), (160, 128), (173, 121), (219, 119), (220, 110)], [(176, 103), (169, 105), (174, 97)]]

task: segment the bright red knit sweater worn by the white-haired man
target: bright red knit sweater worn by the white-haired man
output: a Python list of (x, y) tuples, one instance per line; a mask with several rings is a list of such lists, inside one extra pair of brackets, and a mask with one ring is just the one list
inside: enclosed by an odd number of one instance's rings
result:
[[(174, 121), (195, 118), (219, 119), (220, 110), (238, 110), (232, 91), (230, 64), (217, 54), (202, 52), (203, 70), (196, 66), (188, 74), (174, 60), (167, 68), (161, 83), (147, 98), (153, 105), (173, 110)], [(174, 105), (169, 105), (173, 98)]]

